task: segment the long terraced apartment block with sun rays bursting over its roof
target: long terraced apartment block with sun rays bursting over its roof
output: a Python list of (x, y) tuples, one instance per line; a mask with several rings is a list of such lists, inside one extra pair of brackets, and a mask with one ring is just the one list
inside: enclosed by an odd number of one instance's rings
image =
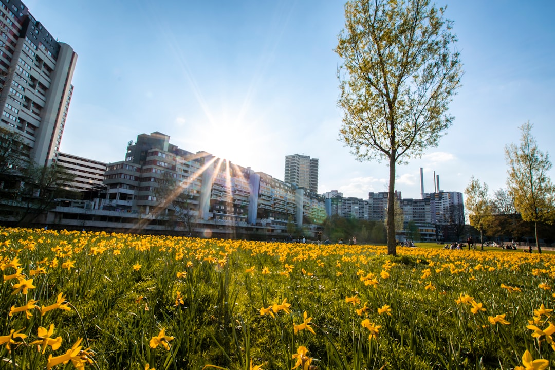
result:
[[(316, 224), (326, 216), (323, 196), (169, 140), (159, 132), (138, 135), (125, 160), (107, 165), (105, 197), (87, 211), (89, 227), (152, 231), (189, 224), (196, 235), (240, 231), (285, 237), (292, 224), (316, 235)], [(83, 222), (78, 212), (58, 207), (52, 222)]]

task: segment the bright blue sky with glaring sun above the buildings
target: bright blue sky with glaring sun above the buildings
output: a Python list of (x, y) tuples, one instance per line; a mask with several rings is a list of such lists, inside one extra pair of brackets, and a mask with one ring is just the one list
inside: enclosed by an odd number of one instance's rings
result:
[[(129, 140), (160, 131), (284, 178), (285, 155), (320, 160), (319, 192), (367, 198), (386, 191), (388, 167), (357, 162), (339, 141), (333, 49), (344, 1), (27, 0), (29, 11), (78, 54), (60, 150), (124, 159)], [(527, 120), (552, 154), (555, 23), (552, 1), (468, 0), (447, 4), (465, 75), (455, 121), (437, 148), (397, 166), (396, 189), (420, 197), (464, 191), (471, 176), (505, 186), (503, 149)], [(553, 179), (555, 172), (550, 175)]]

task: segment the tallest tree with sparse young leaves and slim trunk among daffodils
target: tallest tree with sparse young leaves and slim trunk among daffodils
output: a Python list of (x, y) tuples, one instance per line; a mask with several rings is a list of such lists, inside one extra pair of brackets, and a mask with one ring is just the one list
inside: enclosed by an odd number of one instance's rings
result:
[(430, 0), (350, 0), (335, 49), (340, 137), (357, 160), (389, 166), (387, 252), (396, 255), (395, 166), (437, 146), (462, 64), (452, 22)]

